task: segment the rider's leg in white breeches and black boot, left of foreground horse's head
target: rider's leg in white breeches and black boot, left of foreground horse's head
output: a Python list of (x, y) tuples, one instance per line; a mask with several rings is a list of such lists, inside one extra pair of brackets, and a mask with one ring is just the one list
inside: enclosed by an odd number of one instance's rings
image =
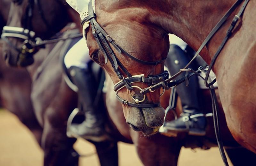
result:
[(94, 103), (97, 94), (97, 84), (89, 66), (89, 50), (84, 39), (78, 41), (67, 53), (65, 64), (71, 79), (78, 87), (78, 109), (84, 112), (85, 120), (81, 124), (72, 124), (69, 128), (75, 137), (83, 137), (94, 141), (106, 139), (103, 112)]

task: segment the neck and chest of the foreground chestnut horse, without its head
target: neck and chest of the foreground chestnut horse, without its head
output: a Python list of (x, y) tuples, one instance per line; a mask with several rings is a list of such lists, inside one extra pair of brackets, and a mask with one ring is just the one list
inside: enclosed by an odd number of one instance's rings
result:
[[(165, 28), (191, 44), (194, 49), (199, 48), (211, 28), (220, 20), (228, 8), (235, 3), (235, 1), (215, 1), (209, 2), (208, 7), (205, 7), (203, 3), (196, 1), (188, 4), (182, 4), (181, 1), (169, 2), (170, 5), (168, 6), (173, 7), (172, 3), (178, 4), (179, 6), (184, 6), (185, 9), (183, 10), (187, 12), (181, 12), (177, 10), (177, 7), (165, 10), (165, 13), (168, 13), (169, 16), (168, 19), (162, 20), (162, 22), (168, 22)], [(197, 5), (193, 5), (193, 3)], [(201, 52), (200, 55), (208, 64), (226, 35), (235, 13), (239, 11), (241, 6), (237, 7), (236, 11), (233, 12)], [(256, 14), (255, 7), (255, 1), (248, 3), (241, 17), (240, 24), (236, 27), (233, 35), (221, 51), (213, 68), (218, 81), (220, 99), (229, 130), (241, 145), (253, 152), (256, 152), (256, 122), (253, 117), (256, 113), (256, 89), (254, 84), (256, 80), (252, 75), (256, 71), (254, 67), (256, 62), (254, 57), (256, 52), (256, 35), (253, 32), (255, 26), (253, 15)], [(198, 15), (203, 17), (194, 18)]]

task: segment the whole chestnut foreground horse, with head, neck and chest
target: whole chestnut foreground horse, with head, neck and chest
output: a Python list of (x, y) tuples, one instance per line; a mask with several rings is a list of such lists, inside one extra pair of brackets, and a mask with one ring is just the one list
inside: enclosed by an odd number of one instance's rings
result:
[[(197, 50), (213, 26), (217, 24), (236, 0), (206, 2), (200, 0), (189, 2), (179, 0), (157, 2), (154, 0), (114, 0), (111, 2), (97, 0), (95, 2), (97, 21), (108, 35), (133, 57), (152, 62), (166, 58), (169, 49), (167, 35), (169, 33), (179, 36), (193, 49)], [(232, 19), (242, 7), (242, 1), (239, 0), (239, 2), (241, 3), (235, 11), (200, 52), (200, 55), (208, 64), (210, 64), (214, 53), (225, 37)], [(255, 8), (256, 2), (249, 1), (240, 18), (239, 25), (233, 31), (213, 67), (228, 128), (241, 145), (253, 152), (256, 152), (256, 120), (253, 116), (256, 113), (256, 88), (255, 77), (253, 76), (256, 71), (254, 67), (256, 58), (253, 57), (256, 52)], [(113, 82), (118, 82), (120, 79), (116, 76), (110, 63), (104, 63), (104, 56), (99, 52), (97, 42), (92, 35), (92, 27), (90, 26), (86, 32), (90, 56), (98, 56), (100, 64), (106, 69)], [(145, 76), (148, 76), (163, 72), (163, 64), (157, 64), (156, 66), (140, 64), (125, 55), (120, 56), (120, 51), (113, 50), (132, 75), (144, 73)], [(135, 85), (141, 88), (147, 87), (147, 85), (141, 83)], [(129, 90), (126, 88), (118, 92), (121, 98), (132, 102), (132, 98), (127, 94), (129, 94)], [(148, 101), (145, 103), (159, 102), (159, 90), (146, 96)], [(133, 125), (138, 127), (140, 124), (135, 123), (133, 119), (143, 116), (139, 113), (139, 110), (127, 107), (124, 104), (123, 109), (126, 121), (132, 121)], [(152, 116), (150, 116), (151, 119), (144, 117), (147, 124), (144, 127), (156, 128), (157, 125), (151, 126), (148, 122), (159, 121), (159, 118), (162, 117), (158, 113), (159, 108), (157, 108), (157, 112), (154, 108), (147, 108), (146, 110), (152, 112)], [(141, 128), (141, 126), (138, 128)], [(154, 133), (153, 130), (151, 130), (151, 133)]]

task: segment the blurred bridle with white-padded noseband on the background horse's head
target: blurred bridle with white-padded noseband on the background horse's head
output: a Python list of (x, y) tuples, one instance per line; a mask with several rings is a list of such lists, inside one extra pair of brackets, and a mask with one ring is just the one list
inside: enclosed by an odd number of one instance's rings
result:
[[(59, 0), (57, 2), (61, 3)], [(21, 5), (23, 3), (23, 0), (13, 0), (13, 3), (16, 3), (17, 5)], [(21, 27), (13, 27), (13, 26), (4, 26), (3, 33), (1, 35), (1, 38), (9, 46), (11, 46), (13, 49), (15, 49), (19, 53), (19, 61), (32, 58), (32, 56), (38, 50), (37, 48), (39, 49), (44, 48), (45, 44), (83, 36), (82, 34), (75, 34), (75, 35), (69, 35), (69, 36), (65, 36), (57, 39), (49, 39), (49, 40), (42, 41), (39, 37), (36, 37), (36, 34), (33, 31), (33, 26), (32, 26), (32, 18), (33, 18), (35, 5), (37, 5), (38, 13), (40, 14), (40, 17), (43, 20), (44, 25), (47, 27), (47, 30), (49, 32), (53, 32), (52, 34), (55, 34), (57, 32), (57, 31), (56, 32), (54, 31), (54, 27), (50, 26), (50, 24), (46, 20), (44, 11), (42, 9), (41, 1), (28, 0), (26, 13), (24, 18), (22, 19), (23, 20), (22, 22), (24, 23), (23, 27), (21, 28)], [(23, 40), (21, 47), (14, 45), (12, 41), (8, 39), (9, 37), (14, 37), (14, 38)], [(29, 64), (32, 64), (32, 63), (33, 61), (31, 61)]]

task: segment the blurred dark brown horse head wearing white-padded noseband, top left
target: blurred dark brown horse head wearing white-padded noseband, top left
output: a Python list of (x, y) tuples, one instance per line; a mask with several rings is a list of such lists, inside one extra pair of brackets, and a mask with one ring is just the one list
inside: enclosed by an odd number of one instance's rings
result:
[[(34, 1), (34, 0), (13, 0), (9, 11), (7, 25), (11, 27), (8, 30), (14, 30), (16, 35), (18, 33), (28, 32), (28, 40), (17, 37), (6, 37), (3, 48), (4, 59), (7, 64), (12, 66), (25, 67), (33, 63), (33, 55), (38, 48), (32, 48), (30, 38), (41, 38), (42, 40), (50, 38), (52, 35), (59, 32), (71, 18), (68, 12), (68, 5), (64, 1)], [(70, 8), (71, 9), (71, 8)], [(21, 27), (28, 29), (17, 28)], [(15, 36), (16, 36), (15, 35)], [(26, 38), (26, 37), (25, 37)], [(27, 43), (27, 44), (24, 44)], [(21, 56), (22, 47), (26, 45), (28, 49), (33, 50)], [(34, 50), (35, 49), (35, 50)], [(25, 60), (24, 60), (25, 59)]]

